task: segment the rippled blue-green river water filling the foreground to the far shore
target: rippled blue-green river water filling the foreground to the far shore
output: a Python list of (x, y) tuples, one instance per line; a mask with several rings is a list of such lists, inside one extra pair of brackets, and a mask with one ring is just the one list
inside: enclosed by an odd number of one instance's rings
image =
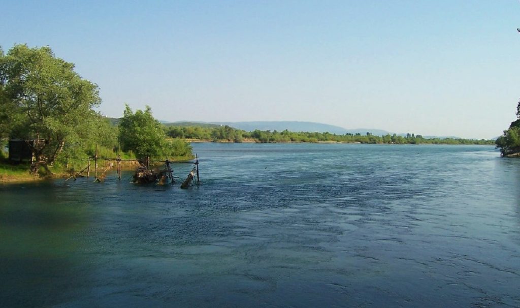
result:
[(520, 307), (520, 159), (193, 147), (198, 188), (0, 186), (0, 306)]

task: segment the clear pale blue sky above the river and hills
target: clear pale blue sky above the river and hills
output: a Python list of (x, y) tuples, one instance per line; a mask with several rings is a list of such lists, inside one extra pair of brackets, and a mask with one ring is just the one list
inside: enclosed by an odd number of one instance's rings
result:
[(520, 98), (517, 0), (11, 1), (0, 45), (50, 46), (100, 111), (491, 138)]

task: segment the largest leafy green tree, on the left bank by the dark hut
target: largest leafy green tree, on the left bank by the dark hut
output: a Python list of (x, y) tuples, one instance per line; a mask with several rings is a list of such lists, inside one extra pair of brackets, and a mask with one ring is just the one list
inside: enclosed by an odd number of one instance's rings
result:
[[(53, 163), (67, 146), (88, 137), (99, 119), (98, 86), (82, 79), (74, 64), (57, 58), (50, 47), (15, 45), (0, 52), (0, 130), (28, 140), (38, 165)], [(29, 140), (32, 140), (29, 142)]]

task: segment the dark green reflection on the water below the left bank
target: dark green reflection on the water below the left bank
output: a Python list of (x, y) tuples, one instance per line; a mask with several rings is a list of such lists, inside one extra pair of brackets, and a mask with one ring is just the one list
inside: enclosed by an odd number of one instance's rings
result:
[(75, 277), (83, 274), (85, 258), (78, 253), (84, 243), (75, 235), (87, 227), (84, 204), (81, 194), (63, 194), (51, 184), (3, 187), (2, 306), (53, 305), (64, 290), (78, 286)]

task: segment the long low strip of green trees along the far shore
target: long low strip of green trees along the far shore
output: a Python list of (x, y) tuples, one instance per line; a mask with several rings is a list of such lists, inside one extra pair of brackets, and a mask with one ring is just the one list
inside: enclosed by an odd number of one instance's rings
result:
[(362, 134), (336, 135), (320, 132), (290, 132), (260, 131), (245, 132), (224, 125), (217, 127), (201, 126), (165, 126), (166, 134), (172, 138), (186, 138), (212, 142), (256, 142), (256, 143), (283, 143), (283, 142), (338, 142), (364, 144), (477, 144), (492, 145), (493, 140), (475, 140), (462, 138), (424, 138), (421, 135), (406, 134), (405, 136), (390, 135), (376, 136), (367, 132)]

